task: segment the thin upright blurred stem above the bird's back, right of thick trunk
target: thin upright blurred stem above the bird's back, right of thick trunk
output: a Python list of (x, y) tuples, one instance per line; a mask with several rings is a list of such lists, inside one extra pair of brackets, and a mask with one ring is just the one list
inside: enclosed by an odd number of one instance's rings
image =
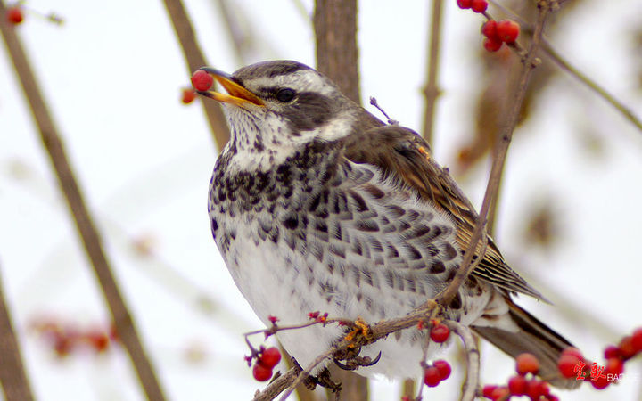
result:
[(432, 1), (432, 20), (429, 32), (428, 61), (426, 62), (426, 84), (424, 86), (424, 124), (422, 136), (432, 146), (432, 129), (434, 128), (435, 104), (441, 91), (437, 83), (439, 70), (440, 42), (441, 42), (441, 15), (443, 0)]

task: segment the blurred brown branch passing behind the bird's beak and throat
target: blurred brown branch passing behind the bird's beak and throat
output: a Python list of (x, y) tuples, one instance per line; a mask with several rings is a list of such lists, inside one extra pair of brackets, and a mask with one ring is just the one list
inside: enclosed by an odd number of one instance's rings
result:
[[(180, 42), (181, 49), (183, 49), (185, 61), (187, 61), (187, 69), (191, 73), (207, 65), (205, 56), (201, 51), (201, 46), (199, 46), (196, 41), (192, 21), (190, 21), (187, 16), (185, 6), (181, 0), (163, 0), (163, 3), (165, 4), (165, 8), (169, 14), (169, 20), (171, 20), (174, 31), (178, 37), (178, 42)], [(225, 146), (229, 139), (229, 128), (227, 127), (223, 110), (218, 102), (201, 102), (201, 104), (203, 110), (205, 110), (208, 123), (210, 124), (214, 141), (218, 149), (223, 149), (223, 146)]]

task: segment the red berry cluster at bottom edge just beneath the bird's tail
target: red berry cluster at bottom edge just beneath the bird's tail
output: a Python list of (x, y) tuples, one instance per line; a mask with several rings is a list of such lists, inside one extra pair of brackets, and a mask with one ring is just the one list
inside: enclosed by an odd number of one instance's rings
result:
[(538, 380), (539, 361), (532, 354), (521, 354), (515, 358), (517, 374), (508, 380), (506, 386), (486, 385), (482, 390), (483, 397), (491, 400), (507, 400), (510, 397), (527, 396), (531, 399), (556, 401), (559, 398), (550, 393), (547, 381)]

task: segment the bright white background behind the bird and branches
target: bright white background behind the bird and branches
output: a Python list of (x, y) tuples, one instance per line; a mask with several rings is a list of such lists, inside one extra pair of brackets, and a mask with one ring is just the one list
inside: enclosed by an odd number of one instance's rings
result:
[[(210, 63), (228, 71), (240, 67), (214, 2), (187, 3)], [(235, 3), (265, 44), (248, 62), (284, 58), (314, 65), (311, 26), (292, 1)], [(555, 45), (640, 115), (635, 71), (628, 67), (632, 44), (619, 38), (642, 22), (642, 6), (617, 3), (585, 2), (564, 20), (564, 37)], [(305, 4), (311, 10), (312, 2)], [(427, 4), (364, 1), (359, 14), (361, 93), (376, 96), (394, 119), (416, 129)], [(435, 151), (449, 165), (473, 127), (481, 16), (458, 10), (454, 0), (446, 4)], [(161, 2), (29, 0), (29, 7), (65, 20), (59, 28), (27, 15), (19, 34), (168, 397), (249, 399), (262, 385), (244, 365), (241, 333), (260, 323), (211, 239), (206, 200), (217, 151), (200, 105), (180, 103), (190, 74)], [(37, 397), (143, 399), (122, 352), (60, 362), (28, 330), (37, 315), (91, 325), (106, 322), (108, 314), (4, 46), (0, 59), (0, 268)], [(509, 151), (498, 242), (514, 268), (560, 307), (521, 303), (602, 361), (606, 344), (642, 325), (642, 135), (565, 74), (537, 109), (538, 118), (520, 129)], [(588, 129), (603, 141), (602, 156), (580, 151)], [(482, 164), (461, 183), (477, 205), (486, 175)], [(524, 252), (517, 239), (529, 201), (540, 192), (558, 200), (567, 233), (550, 254)], [(151, 238), (155, 258), (131, 250), (130, 240), (139, 238)], [(166, 266), (191, 285), (163, 273)], [(198, 291), (217, 306), (210, 312), (199, 307)], [(567, 322), (556, 294), (580, 305), (585, 313), (571, 312), (580, 323)], [(594, 316), (616, 335), (597, 331)], [(203, 349), (205, 360), (186, 360), (189, 347)], [(557, 394), (640, 399), (639, 358), (626, 367), (637, 376), (605, 392), (584, 386)], [(484, 346), (484, 382), (506, 383), (512, 370), (512, 362)], [(454, 398), (459, 380), (455, 372), (424, 397)], [(399, 399), (398, 391), (387, 381), (372, 386), (375, 400)]]

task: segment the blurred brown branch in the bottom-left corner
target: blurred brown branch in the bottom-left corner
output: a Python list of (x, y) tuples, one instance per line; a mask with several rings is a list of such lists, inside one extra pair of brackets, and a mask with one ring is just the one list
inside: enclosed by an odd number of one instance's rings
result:
[[(0, 6), (1, 7), (1, 6)], [(4, 14), (0, 13), (0, 17)], [(29, 378), (22, 365), (18, 339), (13, 331), (11, 314), (4, 299), (0, 278), (0, 384), (7, 401), (30, 401), (33, 399)]]

